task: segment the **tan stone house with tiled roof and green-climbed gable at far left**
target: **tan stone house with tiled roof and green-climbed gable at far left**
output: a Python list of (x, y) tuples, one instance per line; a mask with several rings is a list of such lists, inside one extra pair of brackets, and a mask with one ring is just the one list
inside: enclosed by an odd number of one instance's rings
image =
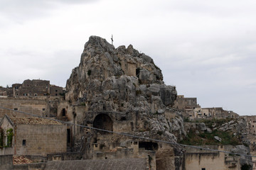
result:
[(55, 120), (5, 115), (0, 128), (1, 155), (46, 156), (67, 150), (67, 126)]

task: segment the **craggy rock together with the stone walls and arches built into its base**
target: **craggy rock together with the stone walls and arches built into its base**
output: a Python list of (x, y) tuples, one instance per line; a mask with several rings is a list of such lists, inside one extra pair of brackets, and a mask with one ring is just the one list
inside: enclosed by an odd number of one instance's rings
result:
[[(182, 118), (172, 108), (176, 89), (166, 86), (162, 80), (161, 70), (151, 57), (134, 50), (132, 45), (115, 49), (105, 39), (91, 36), (79, 67), (73, 69), (67, 81), (67, 101), (60, 103), (58, 118), (93, 128), (176, 142), (176, 137), (186, 132)], [(151, 155), (152, 169), (180, 167), (174, 160), (174, 155), (177, 158), (182, 155), (179, 147), (82, 128), (74, 128), (72, 132), (74, 149), (84, 149), (87, 159)], [(131, 142), (137, 142), (137, 147), (128, 145)], [(101, 148), (95, 150), (96, 146)], [(117, 150), (111, 152), (112, 149)], [(172, 153), (171, 156), (168, 153)]]

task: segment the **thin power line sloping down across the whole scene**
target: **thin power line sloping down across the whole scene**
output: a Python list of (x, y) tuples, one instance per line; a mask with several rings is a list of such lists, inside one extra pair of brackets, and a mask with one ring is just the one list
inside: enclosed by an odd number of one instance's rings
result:
[[(89, 126), (86, 126), (86, 125), (78, 125), (78, 124), (75, 124), (75, 123), (68, 123), (68, 122), (65, 122), (63, 120), (47, 118), (47, 117), (43, 117), (41, 115), (25, 113), (25, 112), (22, 112), (22, 111), (15, 111), (13, 109), (4, 108), (4, 107), (1, 107), (1, 106), (0, 106), (0, 108), (5, 109), (5, 110), (9, 110), (9, 111), (14, 111), (14, 112), (17, 112), (17, 113), (22, 113), (22, 114), (25, 114), (25, 115), (31, 115), (33, 117), (44, 118), (44, 119), (48, 119), (48, 120), (54, 120), (54, 121), (57, 121), (59, 123), (63, 123), (63, 124), (66, 124), (66, 125), (75, 125), (75, 126), (79, 126), (79, 127), (82, 127), (82, 128), (88, 128), (88, 129), (92, 129), (92, 130), (99, 130), (99, 131), (102, 131), (102, 132), (110, 132), (110, 133), (113, 133), (113, 134), (124, 135), (124, 136), (127, 136), (127, 137), (134, 137), (134, 138), (138, 138), (138, 139), (142, 139), (142, 140), (151, 140), (151, 141), (154, 141), (154, 142), (162, 142), (162, 143), (171, 144), (171, 145), (178, 145), (178, 146), (181, 146), (181, 147), (192, 147), (192, 148), (201, 149), (201, 150), (208, 150), (208, 151), (212, 151), (212, 152), (223, 152), (225, 154), (235, 154), (237, 156), (240, 155), (240, 156), (245, 156), (245, 157), (256, 157), (256, 156), (252, 156), (251, 154), (250, 155), (240, 154), (240, 153), (228, 152), (228, 151), (224, 151), (224, 150), (210, 149), (210, 148), (206, 148), (206, 147), (198, 147), (198, 146), (194, 146), (194, 145), (183, 145), (183, 144), (179, 144), (179, 143), (176, 143), (176, 142), (169, 142), (169, 141), (165, 141), (165, 140), (155, 140), (155, 139), (151, 139), (149, 137), (140, 137), (140, 136), (130, 135), (128, 133), (123, 133), (123, 132), (114, 132), (114, 131), (111, 131), (111, 130), (103, 130), (103, 129), (100, 129), (100, 128), (93, 128), (93, 127), (89, 127)], [(247, 159), (247, 160), (249, 160), (249, 159)]]

